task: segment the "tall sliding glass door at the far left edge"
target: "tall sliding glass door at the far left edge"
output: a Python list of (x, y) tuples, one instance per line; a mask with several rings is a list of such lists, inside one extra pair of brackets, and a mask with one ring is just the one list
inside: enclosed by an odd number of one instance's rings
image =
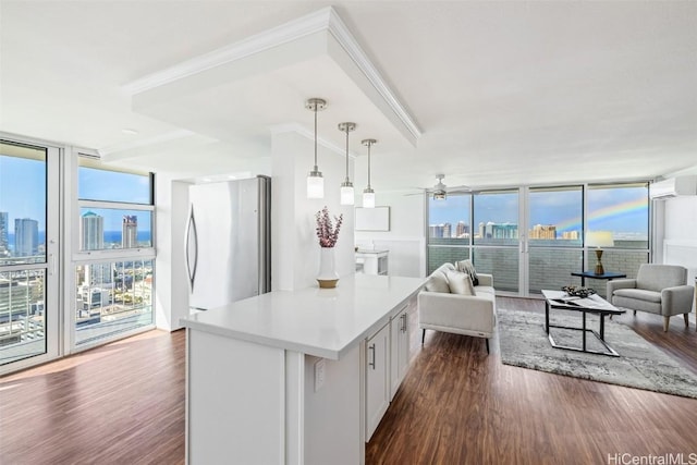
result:
[(0, 140), (0, 374), (59, 355), (58, 155)]

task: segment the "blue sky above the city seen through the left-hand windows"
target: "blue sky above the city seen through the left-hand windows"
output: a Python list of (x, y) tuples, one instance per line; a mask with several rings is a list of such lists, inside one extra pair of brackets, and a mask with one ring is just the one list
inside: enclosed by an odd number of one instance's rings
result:
[[(40, 160), (0, 156), (0, 211), (9, 213), (10, 233), (14, 219), (30, 218), (46, 229), (46, 164)], [(78, 196), (86, 199), (149, 203), (147, 176), (89, 168), (80, 169)], [(124, 215), (138, 217), (138, 231), (150, 230), (150, 213), (133, 210), (99, 210), (105, 231), (120, 231)]]

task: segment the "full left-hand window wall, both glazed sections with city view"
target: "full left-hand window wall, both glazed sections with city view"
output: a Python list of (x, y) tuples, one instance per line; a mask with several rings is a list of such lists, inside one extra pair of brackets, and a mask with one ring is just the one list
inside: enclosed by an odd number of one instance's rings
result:
[(0, 134), (0, 374), (155, 327), (154, 182)]

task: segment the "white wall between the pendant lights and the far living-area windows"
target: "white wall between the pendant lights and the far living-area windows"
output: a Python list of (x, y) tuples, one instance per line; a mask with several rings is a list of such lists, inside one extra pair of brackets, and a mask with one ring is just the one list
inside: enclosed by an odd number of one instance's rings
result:
[(423, 278), (426, 273), (424, 196), (381, 193), (379, 180), (372, 184), (376, 205), (390, 207), (390, 231), (356, 231), (356, 245), (389, 249), (388, 274)]

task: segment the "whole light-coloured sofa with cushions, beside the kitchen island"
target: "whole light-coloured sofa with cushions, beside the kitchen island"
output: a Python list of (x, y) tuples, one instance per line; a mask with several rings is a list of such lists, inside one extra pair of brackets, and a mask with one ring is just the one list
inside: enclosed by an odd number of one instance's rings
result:
[[(455, 266), (443, 264), (428, 278), (425, 290), (418, 294), (418, 322), (421, 344), (426, 330), (452, 332), (484, 338), (489, 353), (489, 339), (496, 326), (496, 291), (491, 274), (477, 273), (479, 284), (465, 294), (454, 271)], [(452, 282), (449, 282), (449, 277)], [(474, 291), (472, 295), (468, 292)]]

